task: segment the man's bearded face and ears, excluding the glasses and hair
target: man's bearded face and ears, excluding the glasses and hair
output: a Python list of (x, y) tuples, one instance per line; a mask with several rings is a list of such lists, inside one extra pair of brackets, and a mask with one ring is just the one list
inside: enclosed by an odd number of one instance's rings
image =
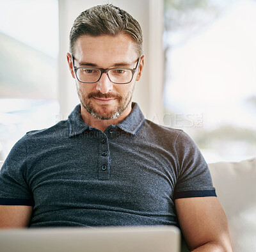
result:
[[(138, 60), (135, 43), (128, 35), (80, 36), (76, 41), (75, 67), (135, 68)], [(68, 65), (73, 77), (72, 64)], [(131, 110), (134, 84), (140, 79), (143, 59), (131, 83), (114, 84), (106, 73), (97, 83), (81, 83), (76, 80), (77, 93), (88, 113), (102, 119), (115, 119), (125, 110)]]

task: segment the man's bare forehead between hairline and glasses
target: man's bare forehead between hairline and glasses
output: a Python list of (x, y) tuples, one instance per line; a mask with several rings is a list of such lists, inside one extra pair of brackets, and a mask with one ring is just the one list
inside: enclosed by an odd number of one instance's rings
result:
[(136, 43), (129, 35), (117, 36), (83, 35), (77, 38), (75, 58), (101, 67), (108, 67), (117, 62), (132, 63), (138, 58)]

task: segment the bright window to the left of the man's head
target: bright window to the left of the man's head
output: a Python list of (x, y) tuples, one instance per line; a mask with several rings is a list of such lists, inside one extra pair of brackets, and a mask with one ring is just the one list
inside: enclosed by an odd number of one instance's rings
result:
[(58, 0), (0, 2), (0, 160), (56, 121)]

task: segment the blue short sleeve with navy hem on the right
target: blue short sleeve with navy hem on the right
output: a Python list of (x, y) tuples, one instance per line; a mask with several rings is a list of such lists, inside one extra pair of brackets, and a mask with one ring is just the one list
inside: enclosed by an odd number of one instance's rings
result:
[(173, 198), (216, 196), (207, 163), (188, 134), (180, 132), (175, 149), (179, 172)]

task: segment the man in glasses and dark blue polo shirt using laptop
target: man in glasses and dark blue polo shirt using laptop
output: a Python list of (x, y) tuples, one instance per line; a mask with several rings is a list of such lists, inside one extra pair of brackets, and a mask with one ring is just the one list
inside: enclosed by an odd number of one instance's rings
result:
[(111, 4), (86, 10), (67, 61), (81, 104), (13, 146), (0, 175), (1, 227), (174, 224), (195, 251), (231, 251), (195, 143), (131, 102), (144, 65), (138, 22)]

